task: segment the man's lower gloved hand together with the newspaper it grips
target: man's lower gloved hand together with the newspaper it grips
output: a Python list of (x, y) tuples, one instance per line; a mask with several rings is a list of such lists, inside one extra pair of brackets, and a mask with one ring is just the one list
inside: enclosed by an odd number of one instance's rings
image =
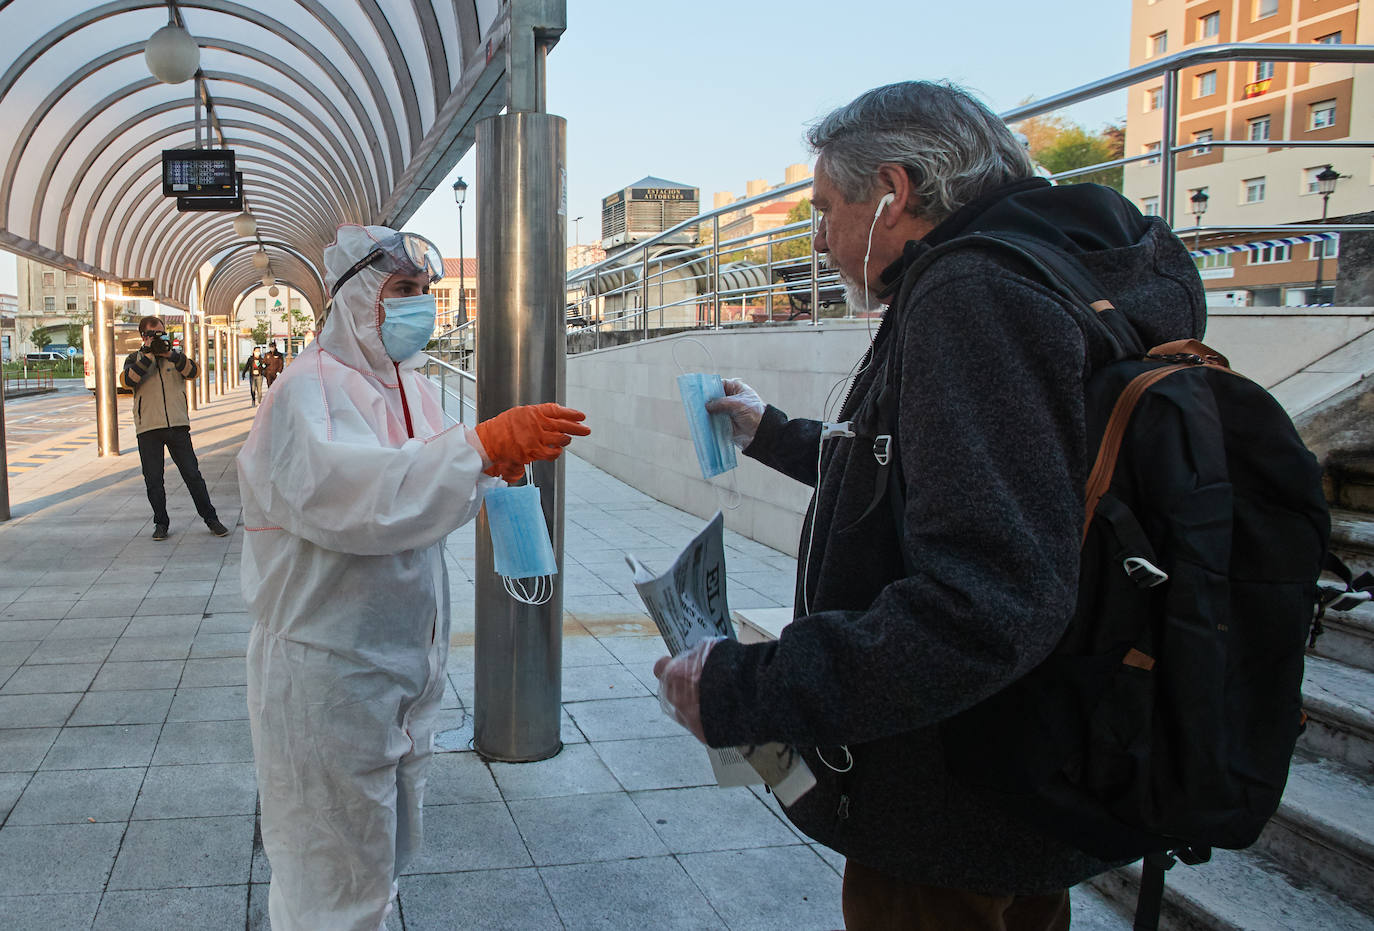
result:
[[(660, 704), (668, 717), (691, 731), (698, 740), (705, 736), (698, 692), (701, 670), (719, 640), (735, 637), (725, 604), (724, 525), (717, 511), (706, 529), (661, 575), (654, 575), (633, 556), (625, 556), (635, 573), (635, 589), (673, 655), (672, 660), (665, 658), (654, 665), (655, 676), (664, 673)], [(785, 744), (708, 748), (708, 754), (719, 785), (763, 781), (783, 805), (791, 805), (816, 784), (801, 754)]]

